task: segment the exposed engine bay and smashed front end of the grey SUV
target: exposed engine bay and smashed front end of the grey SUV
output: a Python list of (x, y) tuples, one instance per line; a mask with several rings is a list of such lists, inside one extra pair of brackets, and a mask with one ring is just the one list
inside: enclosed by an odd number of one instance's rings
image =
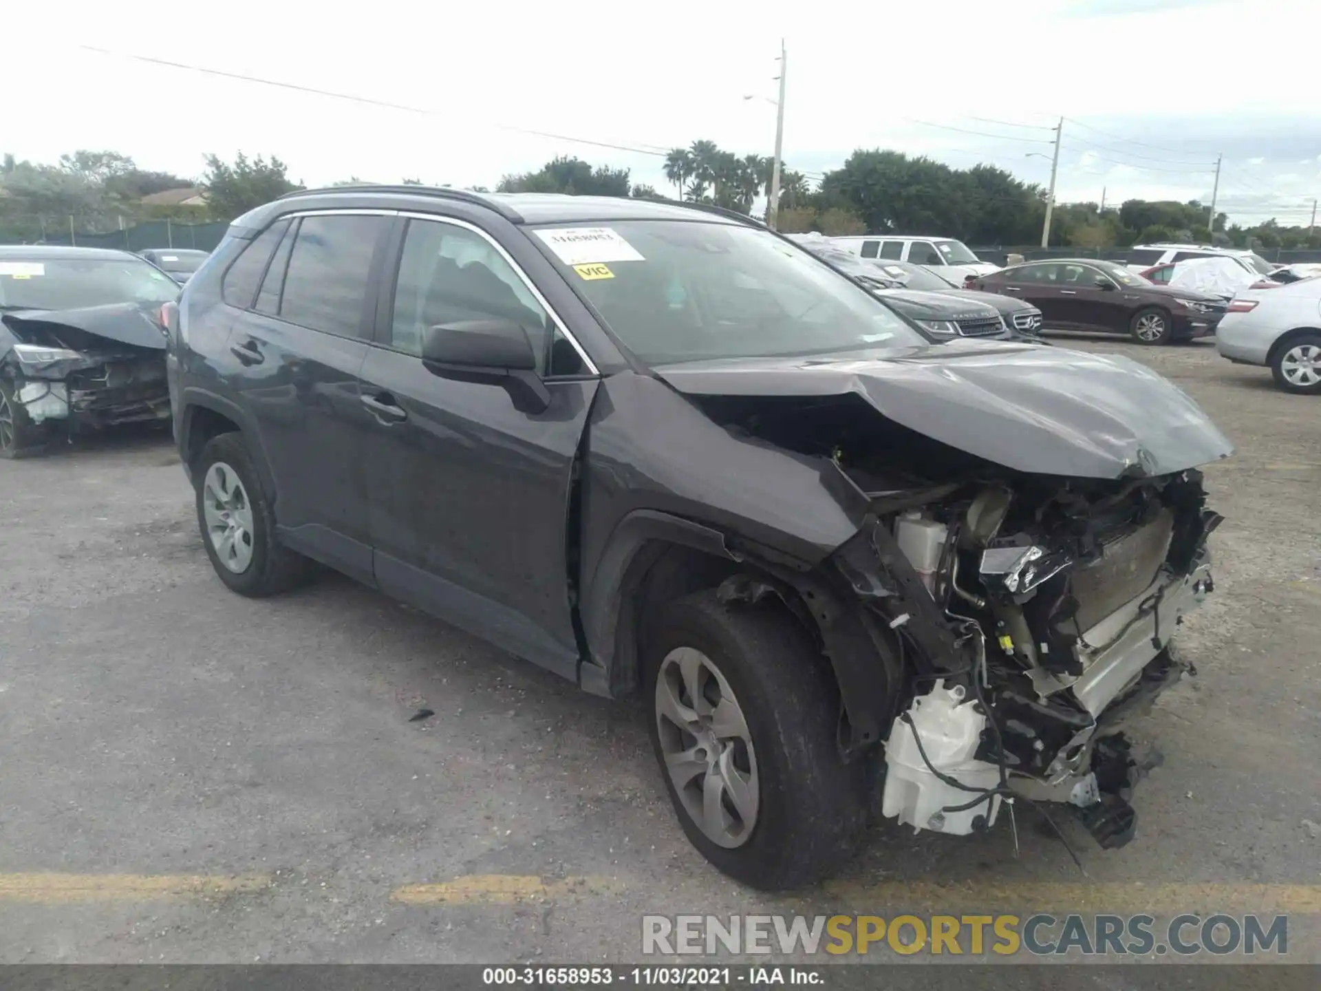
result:
[[(1123, 729), (1190, 670), (1170, 638), (1214, 588), (1206, 538), (1221, 517), (1202, 474), (1029, 474), (857, 415), (848, 398), (703, 404), (760, 439), (828, 455), (867, 501), (834, 564), (884, 671), (841, 678), (840, 745), (885, 743), (882, 813), (968, 834), (1015, 798), (1063, 802), (1102, 846), (1127, 843), (1128, 797), (1149, 765)], [(840, 671), (857, 645), (815, 618)], [(864, 691), (886, 694), (884, 717), (852, 704)]]

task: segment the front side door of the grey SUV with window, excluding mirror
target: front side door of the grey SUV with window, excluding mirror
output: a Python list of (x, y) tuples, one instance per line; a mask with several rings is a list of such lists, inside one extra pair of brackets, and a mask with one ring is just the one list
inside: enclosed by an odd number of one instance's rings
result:
[[(407, 225), (391, 305), (362, 366), (374, 418), (366, 473), (376, 581), (576, 678), (569, 499), (597, 381), (556, 363), (572, 346), (493, 238), (452, 219)], [(522, 325), (542, 355), (543, 412), (520, 411), (501, 386), (441, 378), (423, 363), (424, 328), (493, 317)]]

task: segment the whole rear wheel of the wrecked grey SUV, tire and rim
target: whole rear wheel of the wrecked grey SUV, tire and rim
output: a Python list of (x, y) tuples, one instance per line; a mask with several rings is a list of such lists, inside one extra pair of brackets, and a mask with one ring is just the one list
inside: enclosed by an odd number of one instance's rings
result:
[(301, 584), (310, 563), (275, 539), (275, 513), (242, 435), (209, 440), (193, 477), (197, 522), (221, 581), (254, 599)]

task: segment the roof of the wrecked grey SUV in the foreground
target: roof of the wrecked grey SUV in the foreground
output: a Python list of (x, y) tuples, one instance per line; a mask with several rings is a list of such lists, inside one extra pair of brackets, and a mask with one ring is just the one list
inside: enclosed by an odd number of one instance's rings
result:
[(390, 194), (420, 200), (461, 200), (481, 203), (495, 210), (514, 223), (585, 223), (589, 221), (707, 221), (742, 222), (761, 226), (757, 221), (700, 203), (658, 202), (613, 196), (568, 196), (567, 193), (474, 193), (448, 186), (333, 186), (330, 189), (300, 189), (281, 200), (303, 197)]

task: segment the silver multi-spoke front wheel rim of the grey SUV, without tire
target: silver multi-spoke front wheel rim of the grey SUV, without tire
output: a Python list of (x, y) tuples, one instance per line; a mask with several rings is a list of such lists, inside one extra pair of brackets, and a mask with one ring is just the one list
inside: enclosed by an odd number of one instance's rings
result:
[(694, 647), (666, 654), (655, 720), (666, 772), (694, 823), (717, 846), (746, 843), (761, 803), (757, 754), (742, 707), (709, 657)]

